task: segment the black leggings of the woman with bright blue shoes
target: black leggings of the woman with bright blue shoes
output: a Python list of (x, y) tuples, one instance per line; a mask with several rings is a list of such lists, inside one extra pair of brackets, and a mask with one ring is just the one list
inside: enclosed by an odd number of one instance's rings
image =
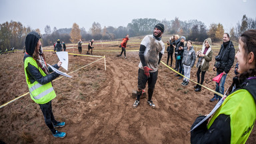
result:
[(51, 109), (51, 101), (45, 104), (39, 104), (39, 106), (43, 112), (43, 117), (45, 117), (45, 124), (47, 125), (47, 127), (49, 127), (51, 132), (55, 134), (55, 129), (53, 127), (53, 124), (57, 125), (57, 121), (53, 116), (53, 111)]

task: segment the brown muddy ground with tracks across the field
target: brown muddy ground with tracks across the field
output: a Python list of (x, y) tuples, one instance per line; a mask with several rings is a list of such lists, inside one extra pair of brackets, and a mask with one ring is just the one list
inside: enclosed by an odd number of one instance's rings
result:
[[(87, 45), (83, 45), (85, 54)], [(131, 48), (134, 47), (134, 48)], [(95, 49), (115, 49), (107, 45), (95, 45)], [(127, 49), (138, 49), (130, 46)], [(73, 52), (73, 49), (69, 49)], [(75, 49), (77, 53), (77, 49)], [(217, 51), (215, 51), (216, 55)], [(137, 109), (132, 105), (135, 99), (131, 92), (137, 89), (138, 52), (127, 52), (127, 59), (116, 57), (119, 52), (94, 51), (93, 55), (106, 55), (107, 71), (101, 59), (70, 75), (53, 82), (57, 97), (53, 99), (53, 113), (58, 121), (66, 125), (57, 128), (64, 131), (64, 139), (54, 138), (45, 125), (39, 105), (29, 95), (0, 109), (0, 140), (5, 143), (190, 143), (190, 130), (195, 118), (213, 109), (209, 102), (213, 93), (202, 89), (194, 91), (194, 83), (187, 87), (175, 73), (160, 65), (159, 76), (152, 109), (147, 99), (141, 99)], [(45, 52), (47, 63), (57, 63), (57, 55)], [(69, 72), (96, 61), (99, 57), (69, 55)], [(163, 56), (166, 63), (167, 54)], [(23, 53), (0, 55), (0, 105), (28, 92), (23, 68)], [(211, 67), (213, 67), (213, 61)], [(61, 71), (65, 71), (63, 68)], [(197, 69), (191, 70), (191, 79), (196, 80)], [(228, 75), (225, 88), (231, 84), (233, 69)], [(215, 76), (207, 71), (205, 78)], [(215, 89), (215, 83), (204, 84)], [(147, 91), (147, 88), (146, 88)], [(253, 129), (247, 143), (255, 143)]]

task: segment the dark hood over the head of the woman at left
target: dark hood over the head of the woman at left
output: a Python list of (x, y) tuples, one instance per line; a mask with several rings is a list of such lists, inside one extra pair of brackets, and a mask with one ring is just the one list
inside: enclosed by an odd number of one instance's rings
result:
[(40, 39), (40, 35), (35, 32), (35, 31), (31, 31), (25, 40), (25, 47), (26, 47), (26, 52), (29, 55), (33, 55), (34, 51), (35, 51), (35, 47), (37, 46), (37, 42)]

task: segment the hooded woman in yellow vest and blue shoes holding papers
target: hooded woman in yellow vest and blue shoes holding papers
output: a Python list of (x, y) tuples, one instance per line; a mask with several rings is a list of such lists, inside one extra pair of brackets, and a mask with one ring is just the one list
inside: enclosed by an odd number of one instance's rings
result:
[[(56, 131), (55, 127), (63, 127), (65, 122), (56, 121), (51, 108), (51, 100), (56, 97), (51, 81), (59, 77), (59, 74), (47, 67), (40, 38), (37, 32), (32, 31), (25, 40), (26, 53), (23, 61), (26, 81), (31, 99), (39, 104), (43, 112), (45, 124), (49, 127), (54, 137), (63, 138), (66, 136), (66, 133)], [(57, 69), (60, 66), (61, 61), (53, 65)]]

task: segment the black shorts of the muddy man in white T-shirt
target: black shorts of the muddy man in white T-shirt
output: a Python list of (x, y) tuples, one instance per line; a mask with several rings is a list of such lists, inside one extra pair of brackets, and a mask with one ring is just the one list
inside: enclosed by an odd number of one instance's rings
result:
[(153, 73), (149, 73), (150, 77), (144, 74), (143, 69), (139, 69), (138, 71), (138, 89), (145, 89), (146, 84), (148, 83), (148, 87), (151, 89), (155, 88), (155, 83), (157, 83), (157, 75), (158, 71)]

